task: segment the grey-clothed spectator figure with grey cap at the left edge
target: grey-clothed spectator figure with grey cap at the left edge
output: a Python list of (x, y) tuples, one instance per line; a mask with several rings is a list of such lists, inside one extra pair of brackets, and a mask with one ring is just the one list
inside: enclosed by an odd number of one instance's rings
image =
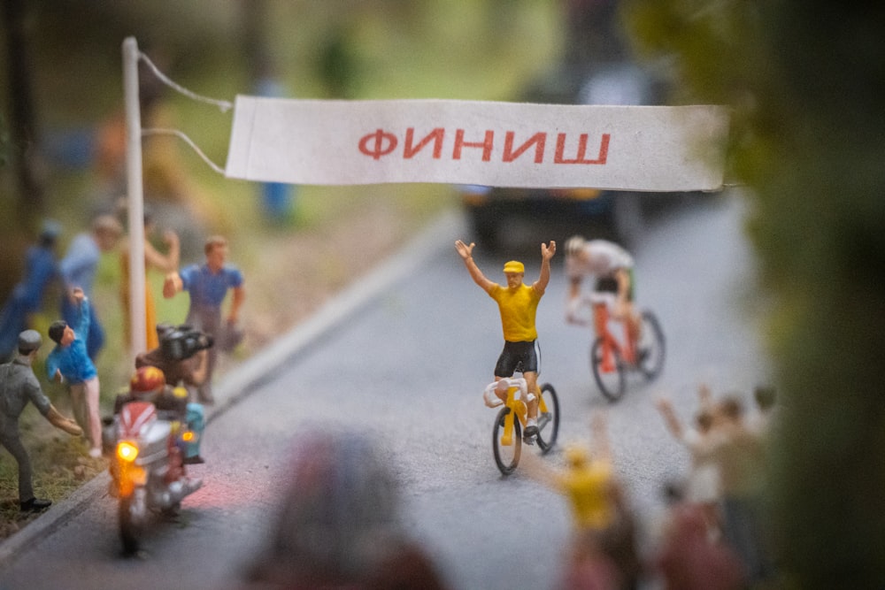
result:
[(83, 431), (70, 418), (65, 418), (50, 403), (40, 388), (31, 365), (42, 340), (36, 330), (19, 333), (18, 356), (0, 365), (0, 444), (19, 464), (19, 507), (22, 512), (38, 512), (49, 508), (49, 500), (36, 498), (31, 480), (31, 460), (19, 439), (19, 416), (27, 402), (32, 402), (50, 424), (72, 436)]

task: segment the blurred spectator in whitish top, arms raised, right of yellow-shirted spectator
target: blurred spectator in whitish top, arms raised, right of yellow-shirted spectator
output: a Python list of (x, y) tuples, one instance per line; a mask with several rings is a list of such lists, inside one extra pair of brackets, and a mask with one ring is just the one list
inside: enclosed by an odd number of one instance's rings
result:
[(716, 445), (713, 428), (713, 413), (709, 404), (709, 390), (702, 386), (698, 390), (701, 409), (697, 412), (694, 428), (684, 428), (676, 417), (673, 405), (666, 398), (658, 399), (658, 410), (664, 417), (667, 428), (673, 437), (689, 450), (691, 470), (686, 480), (685, 502), (696, 504), (712, 537), (720, 533), (719, 464), (713, 454)]

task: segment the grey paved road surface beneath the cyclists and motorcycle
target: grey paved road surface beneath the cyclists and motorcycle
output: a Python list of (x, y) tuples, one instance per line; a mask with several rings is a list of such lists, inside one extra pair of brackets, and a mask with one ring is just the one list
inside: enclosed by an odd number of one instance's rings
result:
[[(543, 380), (557, 387), (564, 415), (560, 441), (586, 440), (591, 411), (609, 410), (618, 469), (646, 543), (660, 486), (688, 458), (666, 433), (653, 395), (666, 391), (688, 419), (700, 381), (716, 392), (747, 393), (765, 379), (755, 326), (745, 319), (753, 308), (740, 224), (739, 203), (723, 199), (650, 226), (635, 251), (638, 298), (662, 320), (666, 368), (617, 404), (592, 382), (589, 333), (563, 321), (561, 251), (539, 309)], [(231, 404), (216, 409), (206, 433), (209, 463), (193, 470), (206, 487), (184, 502), (179, 522), (151, 529), (142, 559), (120, 558), (115, 504), (100, 478), (54, 507), (42, 533), (0, 546), (0, 588), (233, 586), (273, 519), (291, 436), (315, 427), (373, 435), (402, 482), (404, 526), (451, 587), (553, 587), (568, 539), (567, 507), (519, 471), (510, 478), (496, 471), (495, 412), (482, 405), (481, 390), (501, 347), (500, 323), (454, 251), (463, 232), (456, 222), (429, 234), (411, 262), (391, 267), (401, 275), (392, 286), (364, 281), (230, 377), (220, 389)], [(501, 277), (504, 257), (475, 255), (490, 278)], [(527, 281), (539, 260), (540, 249), (524, 257)], [(345, 321), (328, 321), (342, 314)], [(243, 389), (265, 363), (281, 365)], [(557, 453), (545, 459), (561, 460)]]

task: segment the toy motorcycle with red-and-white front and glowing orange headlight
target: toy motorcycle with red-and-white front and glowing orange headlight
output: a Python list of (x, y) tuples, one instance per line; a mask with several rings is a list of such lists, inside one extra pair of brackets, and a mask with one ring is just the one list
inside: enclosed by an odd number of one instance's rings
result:
[(153, 513), (174, 515), (181, 500), (203, 485), (185, 474), (183, 447), (194, 433), (187, 425), (158, 416), (150, 402), (127, 402), (104, 429), (112, 495), (119, 497), (123, 549), (135, 553)]

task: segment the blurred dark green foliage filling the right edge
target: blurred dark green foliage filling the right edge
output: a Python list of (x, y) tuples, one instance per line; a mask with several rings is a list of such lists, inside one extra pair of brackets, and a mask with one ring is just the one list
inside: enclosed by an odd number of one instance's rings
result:
[(773, 524), (790, 586), (885, 585), (885, 6), (629, 0), (683, 97), (734, 109), (784, 423)]

